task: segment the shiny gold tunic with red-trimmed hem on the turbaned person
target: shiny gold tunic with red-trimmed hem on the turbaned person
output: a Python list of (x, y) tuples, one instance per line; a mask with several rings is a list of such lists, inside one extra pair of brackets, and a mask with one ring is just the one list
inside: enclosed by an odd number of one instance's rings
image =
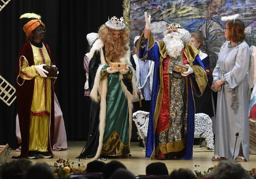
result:
[[(45, 46), (42, 48), (38, 48), (36, 46), (31, 45), (33, 56), (34, 56), (34, 64), (41, 65), (51, 65), (50, 56), (47, 53)], [(21, 67), (20, 77), (25, 80), (31, 80), (35, 78), (35, 86), (33, 92), (33, 100), (31, 104), (31, 115), (33, 116), (42, 116), (42, 115), (50, 115), (51, 111), (51, 78), (50, 77), (41, 77), (35, 66), (28, 66), (27, 60), (24, 57)]]

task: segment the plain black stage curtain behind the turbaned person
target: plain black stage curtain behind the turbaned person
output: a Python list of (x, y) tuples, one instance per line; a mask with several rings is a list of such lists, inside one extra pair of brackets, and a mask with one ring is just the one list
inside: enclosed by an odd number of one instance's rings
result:
[[(11, 0), (0, 11), (0, 75), (15, 86), (17, 54), (26, 35), (20, 15), (34, 12), (46, 25), (45, 42), (50, 46), (59, 75), (55, 92), (60, 103), (67, 139), (86, 140), (89, 111), (84, 100), (84, 54), (86, 34), (97, 32), (108, 17), (123, 15), (122, 0)], [(0, 144), (16, 141), (16, 102), (0, 100)]]

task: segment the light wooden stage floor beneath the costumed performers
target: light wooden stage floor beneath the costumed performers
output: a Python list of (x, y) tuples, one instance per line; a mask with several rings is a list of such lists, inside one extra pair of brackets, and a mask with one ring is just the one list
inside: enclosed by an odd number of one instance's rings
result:
[[(45, 161), (47, 164), (54, 164), (57, 159), (65, 159), (69, 160), (70, 163), (78, 161), (75, 157), (77, 157), (82, 149), (84, 148), (85, 141), (68, 141), (68, 150), (56, 151), (53, 152), (53, 159), (37, 159), (31, 160), (33, 163), (38, 161)], [(198, 146), (194, 145), (194, 148), (198, 148)], [(146, 166), (153, 162), (163, 162), (166, 164), (169, 174), (173, 169), (179, 168), (187, 168), (194, 171), (197, 169), (198, 171), (207, 171), (210, 167), (217, 165), (219, 162), (212, 161), (211, 158), (214, 155), (213, 151), (206, 152), (194, 152), (193, 159), (191, 160), (157, 160), (157, 159), (148, 159), (145, 157), (145, 148), (139, 147), (139, 142), (131, 143), (131, 157), (126, 159), (108, 159), (104, 161), (105, 163), (110, 162), (111, 160), (118, 160), (125, 164), (126, 168), (129, 169), (135, 175), (143, 175), (146, 174)], [(15, 149), (12, 149), (10, 155), (7, 158), (7, 162), (11, 161), (11, 156), (19, 155), (19, 152), (16, 152)], [(240, 164), (244, 169), (251, 170), (252, 168), (256, 168), (256, 155), (250, 154), (249, 162), (241, 162)], [(81, 164), (88, 164), (91, 160), (88, 159), (80, 159)], [(197, 167), (195, 167), (197, 165)], [(73, 167), (76, 167), (77, 163), (73, 164)]]

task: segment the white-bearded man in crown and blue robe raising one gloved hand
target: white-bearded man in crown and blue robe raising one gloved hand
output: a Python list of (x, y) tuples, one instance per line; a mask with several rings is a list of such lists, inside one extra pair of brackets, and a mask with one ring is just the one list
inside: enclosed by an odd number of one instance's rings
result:
[(155, 61), (146, 157), (192, 159), (193, 92), (201, 96), (207, 85), (204, 64), (179, 23), (167, 24), (164, 39), (155, 42), (150, 19), (145, 12), (146, 27), (137, 48), (140, 60)]

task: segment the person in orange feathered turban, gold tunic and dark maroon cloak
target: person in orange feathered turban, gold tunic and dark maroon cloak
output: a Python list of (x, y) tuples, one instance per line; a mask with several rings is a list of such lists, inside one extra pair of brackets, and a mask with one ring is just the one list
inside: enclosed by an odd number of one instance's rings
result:
[(55, 66), (50, 47), (43, 42), (45, 25), (41, 16), (26, 13), (23, 26), (27, 42), (19, 51), (16, 76), (16, 102), (21, 131), (21, 155), (13, 159), (52, 158), (54, 134), (54, 82), (43, 66)]

